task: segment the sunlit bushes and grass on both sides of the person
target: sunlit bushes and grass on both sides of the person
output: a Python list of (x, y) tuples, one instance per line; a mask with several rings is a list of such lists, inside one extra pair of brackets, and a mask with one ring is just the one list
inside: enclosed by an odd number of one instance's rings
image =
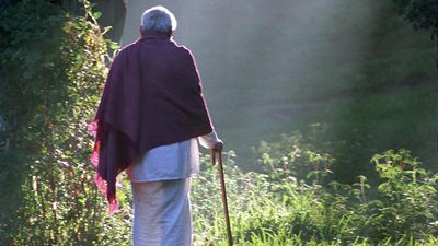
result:
[[(103, 38), (101, 13), (84, 3), (74, 16), (47, 1), (21, 1), (0, 14), (0, 245), (129, 245), (131, 198), (120, 178), (120, 212), (107, 215), (88, 161), (87, 125), (115, 44)], [(32, 21), (38, 20), (38, 21)], [(226, 159), (239, 245), (436, 245), (438, 175), (407, 150), (371, 159), (377, 173), (353, 185), (334, 181), (342, 161), (324, 132), (262, 142), (264, 172)], [(414, 153), (415, 155), (415, 153)], [(226, 245), (218, 176), (203, 157), (194, 179), (196, 245)]]

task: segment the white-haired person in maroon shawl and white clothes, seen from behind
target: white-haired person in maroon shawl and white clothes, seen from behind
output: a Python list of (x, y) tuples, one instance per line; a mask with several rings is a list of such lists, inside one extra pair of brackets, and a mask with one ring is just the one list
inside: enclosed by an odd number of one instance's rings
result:
[(141, 38), (115, 57), (96, 117), (91, 157), (95, 183), (117, 210), (117, 175), (126, 171), (134, 197), (134, 245), (192, 245), (191, 177), (198, 172), (198, 140), (219, 151), (192, 56), (172, 40), (174, 15), (145, 11)]

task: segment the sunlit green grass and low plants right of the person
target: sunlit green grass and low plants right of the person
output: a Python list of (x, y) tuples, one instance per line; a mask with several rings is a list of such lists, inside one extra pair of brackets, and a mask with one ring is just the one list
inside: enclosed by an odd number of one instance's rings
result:
[[(287, 150), (277, 143), (262, 145), (270, 153)], [(434, 245), (437, 242), (438, 176), (419, 168), (406, 150), (387, 151), (372, 157), (381, 178), (376, 187), (365, 176), (354, 185), (332, 183), (324, 187), (297, 181), (293, 175), (285, 177), (280, 171), (279, 176), (243, 173), (233, 163), (234, 154), (229, 152), (227, 156), (226, 180), (237, 245)], [(195, 245), (227, 245), (216, 167), (206, 166), (207, 159), (203, 163), (204, 171), (194, 180), (192, 192)]]

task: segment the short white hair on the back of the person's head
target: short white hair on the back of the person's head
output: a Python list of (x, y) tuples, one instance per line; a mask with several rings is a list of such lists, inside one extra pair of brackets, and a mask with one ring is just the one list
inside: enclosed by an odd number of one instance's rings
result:
[(152, 7), (141, 16), (141, 28), (146, 32), (166, 33), (176, 30), (175, 15), (162, 5)]

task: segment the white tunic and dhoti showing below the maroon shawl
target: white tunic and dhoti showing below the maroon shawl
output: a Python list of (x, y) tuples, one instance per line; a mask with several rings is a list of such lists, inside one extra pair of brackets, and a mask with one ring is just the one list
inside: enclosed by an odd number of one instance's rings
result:
[[(211, 148), (215, 131), (199, 138)], [(127, 168), (134, 200), (134, 246), (192, 246), (191, 177), (199, 169), (196, 138), (157, 147)]]

